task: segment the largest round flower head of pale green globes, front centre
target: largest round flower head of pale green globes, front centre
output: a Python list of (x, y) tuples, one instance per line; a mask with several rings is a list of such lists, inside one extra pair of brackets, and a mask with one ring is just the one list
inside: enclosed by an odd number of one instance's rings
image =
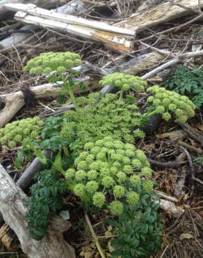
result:
[[(67, 188), (83, 202), (102, 208), (113, 215), (123, 211), (122, 200), (134, 206), (140, 199), (136, 189), (152, 192), (152, 170), (143, 151), (133, 144), (124, 144), (112, 137), (95, 143), (88, 142), (74, 161), (75, 168), (67, 169)], [(108, 196), (112, 196), (108, 200)]]

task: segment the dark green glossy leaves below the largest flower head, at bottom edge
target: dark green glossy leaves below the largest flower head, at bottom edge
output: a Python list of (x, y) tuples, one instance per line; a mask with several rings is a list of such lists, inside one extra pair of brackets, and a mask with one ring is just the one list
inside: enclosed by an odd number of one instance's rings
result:
[(124, 204), (124, 212), (117, 220), (108, 220), (117, 237), (111, 241), (115, 250), (112, 257), (149, 258), (161, 247), (162, 231), (157, 209), (159, 204), (152, 201), (151, 195), (140, 192), (138, 204), (129, 207)]

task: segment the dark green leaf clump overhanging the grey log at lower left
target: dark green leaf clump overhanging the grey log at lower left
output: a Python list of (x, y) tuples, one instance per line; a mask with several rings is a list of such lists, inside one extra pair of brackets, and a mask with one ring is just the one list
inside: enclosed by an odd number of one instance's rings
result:
[(48, 232), (49, 214), (56, 213), (62, 207), (61, 195), (65, 191), (65, 183), (58, 180), (56, 172), (44, 170), (35, 176), (35, 183), (31, 187), (31, 197), (24, 206), (29, 234), (35, 240), (40, 240)]

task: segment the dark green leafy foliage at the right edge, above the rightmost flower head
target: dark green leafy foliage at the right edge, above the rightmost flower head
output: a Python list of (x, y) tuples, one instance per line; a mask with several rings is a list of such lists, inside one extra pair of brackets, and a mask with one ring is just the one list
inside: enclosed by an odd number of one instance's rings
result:
[(164, 77), (165, 88), (188, 96), (199, 109), (203, 103), (203, 70), (179, 66)]

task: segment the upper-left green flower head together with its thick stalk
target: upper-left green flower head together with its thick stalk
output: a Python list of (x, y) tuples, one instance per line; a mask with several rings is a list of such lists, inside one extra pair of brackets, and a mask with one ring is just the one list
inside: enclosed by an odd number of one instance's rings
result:
[[(31, 75), (48, 75), (50, 82), (61, 80), (63, 82), (61, 93), (68, 93), (75, 109), (78, 110), (76, 98), (72, 91), (72, 88), (76, 86), (72, 77), (76, 74), (76, 71), (73, 71), (72, 68), (81, 65), (81, 63), (79, 54), (71, 52), (47, 52), (28, 61), (24, 67), (24, 72), (29, 72)], [(68, 73), (69, 76), (65, 77), (65, 73)]]

